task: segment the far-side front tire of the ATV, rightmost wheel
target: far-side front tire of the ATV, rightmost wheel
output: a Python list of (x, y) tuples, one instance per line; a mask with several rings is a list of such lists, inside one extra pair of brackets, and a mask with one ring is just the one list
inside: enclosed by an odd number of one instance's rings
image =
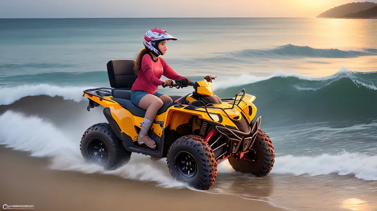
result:
[(257, 137), (250, 150), (241, 159), (232, 156), (228, 160), (237, 172), (251, 173), (262, 177), (266, 176), (274, 167), (275, 149), (268, 135), (258, 129)]

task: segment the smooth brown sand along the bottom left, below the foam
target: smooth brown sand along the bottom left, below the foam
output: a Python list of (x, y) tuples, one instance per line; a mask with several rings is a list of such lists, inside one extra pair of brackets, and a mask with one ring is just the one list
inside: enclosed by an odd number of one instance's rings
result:
[(164, 189), (154, 182), (48, 169), (47, 158), (0, 146), (0, 204), (34, 210), (284, 210), (235, 195)]

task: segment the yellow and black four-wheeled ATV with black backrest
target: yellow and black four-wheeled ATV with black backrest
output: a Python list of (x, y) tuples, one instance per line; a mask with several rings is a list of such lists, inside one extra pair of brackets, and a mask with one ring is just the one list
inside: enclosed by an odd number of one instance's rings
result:
[(239, 172), (267, 175), (274, 166), (275, 151), (270, 138), (259, 129), (261, 117), (255, 119), (256, 97), (240, 90), (234, 98), (213, 95), (211, 79), (190, 82), (176, 80), (176, 88), (192, 86), (185, 96), (170, 96), (158, 111), (149, 131), (157, 147), (138, 145), (145, 110), (131, 103), (131, 87), (137, 78), (134, 60), (110, 60), (107, 63), (112, 88), (83, 91), (90, 108), (101, 105), (109, 123), (91, 126), (82, 135), (82, 156), (115, 170), (141, 153), (167, 158), (173, 178), (200, 190), (215, 182), (218, 164), (228, 159)]

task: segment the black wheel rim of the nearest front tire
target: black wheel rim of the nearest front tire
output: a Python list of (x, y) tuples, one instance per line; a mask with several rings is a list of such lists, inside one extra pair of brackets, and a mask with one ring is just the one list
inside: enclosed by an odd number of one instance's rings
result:
[(179, 152), (175, 156), (175, 166), (184, 177), (193, 177), (197, 172), (195, 157), (189, 152)]

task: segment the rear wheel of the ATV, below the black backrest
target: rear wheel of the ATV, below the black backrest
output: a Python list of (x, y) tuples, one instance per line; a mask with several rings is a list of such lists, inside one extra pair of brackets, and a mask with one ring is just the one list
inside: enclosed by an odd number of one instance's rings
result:
[(131, 159), (131, 152), (124, 149), (108, 123), (88, 128), (82, 135), (80, 151), (87, 161), (103, 166), (105, 170), (115, 170)]

